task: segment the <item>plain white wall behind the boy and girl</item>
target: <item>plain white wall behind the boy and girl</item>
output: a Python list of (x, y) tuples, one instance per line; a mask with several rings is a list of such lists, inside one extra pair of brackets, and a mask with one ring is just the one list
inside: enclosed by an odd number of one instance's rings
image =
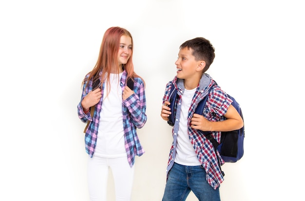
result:
[[(11, 0), (0, 2), (0, 200), (88, 201), (81, 81), (104, 32), (127, 28), (146, 83), (133, 201), (160, 201), (172, 143), (160, 118), (179, 46), (209, 39), (208, 73), (242, 106), (245, 155), (226, 163), (222, 201), (303, 196), (304, 9), (298, 0)], [(110, 179), (109, 200), (114, 201)], [(191, 194), (188, 201), (196, 201)]]

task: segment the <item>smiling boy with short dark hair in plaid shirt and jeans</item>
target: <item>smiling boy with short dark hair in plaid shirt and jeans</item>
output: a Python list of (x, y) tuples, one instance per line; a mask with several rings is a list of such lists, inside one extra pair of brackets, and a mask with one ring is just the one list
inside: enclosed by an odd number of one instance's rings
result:
[[(163, 201), (185, 201), (191, 191), (199, 201), (220, 201), (219, 186), (224, 178), (213, 145), (198, 129), (212, 131), (212, 136), (220, 142), (221, 131), (239, 129), (244, 123), (226, 92), (213, 85), (215, 81), (205, 74), (214, 57), (209, 40), (187, 40), (181, 44), (175, 62), (177, 75), (166, 85), (161, 117), (168, 121), (174, 112), (176, 120)], [(171, 83), (177, 89), (175, 111), (168, 107)], [(212, 90), (207, 95), (210, 87)], [(194, 114), (198, 102), (206, 95), (209, 98), (203, 114)], [(217, 155), (220, 157), (218, 152)]]

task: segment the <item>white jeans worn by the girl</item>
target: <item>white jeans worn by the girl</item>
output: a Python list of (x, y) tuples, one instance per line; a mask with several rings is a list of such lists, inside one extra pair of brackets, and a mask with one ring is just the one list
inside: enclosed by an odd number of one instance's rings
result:
[(133, 188), (134, 165), (130, 167), (126, 157), (88, 159), (88, 186), (90, 201), (107, 201), (108, 173), (114, 177), (116, 201), (130, 201)]

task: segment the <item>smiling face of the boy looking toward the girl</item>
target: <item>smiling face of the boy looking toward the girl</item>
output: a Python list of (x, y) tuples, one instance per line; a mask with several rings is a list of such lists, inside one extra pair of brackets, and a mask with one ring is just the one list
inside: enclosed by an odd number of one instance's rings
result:
[(192, 49), (183, 48), (179, 50), (178, 59), (175, 64), (177, 66), (177, 78), (184, 80), (194, 79), (198, 74), (198, 66), (200, 60), (195, 60), (192, 55)]

